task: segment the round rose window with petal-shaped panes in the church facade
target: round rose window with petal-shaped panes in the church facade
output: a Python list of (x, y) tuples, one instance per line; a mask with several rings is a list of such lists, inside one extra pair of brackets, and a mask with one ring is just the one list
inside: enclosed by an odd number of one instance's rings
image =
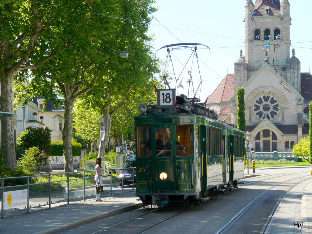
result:
[(256, 100), (254, 111), (260, 119), (273, 119), (280, 110), (279, 106), (274, 97), (262, 96)]

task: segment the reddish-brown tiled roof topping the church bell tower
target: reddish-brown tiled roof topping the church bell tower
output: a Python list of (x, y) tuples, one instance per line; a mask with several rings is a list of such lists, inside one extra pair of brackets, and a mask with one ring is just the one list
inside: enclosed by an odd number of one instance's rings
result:
[[(269, 13), (266, 13), (269, 9)], [(277, 16), (280, 13), (280, 0), (256, 0), (253, 16)]]

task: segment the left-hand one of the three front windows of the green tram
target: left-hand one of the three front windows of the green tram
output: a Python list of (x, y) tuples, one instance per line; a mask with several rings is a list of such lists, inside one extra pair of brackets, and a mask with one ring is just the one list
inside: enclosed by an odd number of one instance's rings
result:
[(151, 156), (151, 127), (140, 126), (137, 128), (137, 157)]

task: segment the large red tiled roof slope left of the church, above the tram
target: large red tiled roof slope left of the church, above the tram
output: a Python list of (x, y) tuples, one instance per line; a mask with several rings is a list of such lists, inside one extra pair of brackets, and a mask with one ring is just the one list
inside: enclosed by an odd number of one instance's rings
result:
[(224, 77), (218, 87), (207, 98), (209, 102), (224, 102), (229, 101), (234, 95), (234, 74), (228, 74)]

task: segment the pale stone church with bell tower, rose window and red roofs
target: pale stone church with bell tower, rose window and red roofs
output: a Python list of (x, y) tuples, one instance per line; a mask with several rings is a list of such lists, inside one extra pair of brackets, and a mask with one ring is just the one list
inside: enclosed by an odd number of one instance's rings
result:
[(245, 56), (242, 50), (228, 74), (208, 96), (206, 106), (219, 119), (236, 124), (236, 90), (245, 90), (246, 138), (256, 152), (291, 152), (309, 134), (312, 76), (301, 73), (295, 49), (290, 55), (288, 0), (247, 0)]

